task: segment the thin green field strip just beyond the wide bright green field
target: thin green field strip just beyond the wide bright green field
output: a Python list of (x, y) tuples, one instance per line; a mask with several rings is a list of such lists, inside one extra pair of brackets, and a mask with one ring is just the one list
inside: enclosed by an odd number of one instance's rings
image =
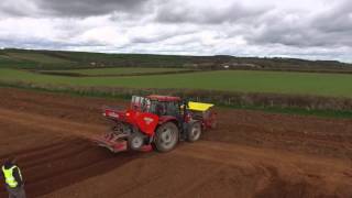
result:
[[(68, 70), (47, 70), (58, 74), (79, 74), (79, 75), (129, 75), (129, 74), (150, 74), (188, 70), (183, 68), (145, 68), (145, 67), (119, 67), (119, 68), (95, 68), (95, 69), (68, 69)], [(46, 72), (46, 70), (42, 70)]]

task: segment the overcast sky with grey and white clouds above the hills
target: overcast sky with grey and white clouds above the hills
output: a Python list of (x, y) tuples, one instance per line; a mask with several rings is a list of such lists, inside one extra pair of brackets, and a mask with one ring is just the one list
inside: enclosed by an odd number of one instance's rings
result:
[(352, 1), (1, 0), (0, 47), (352, 62)]

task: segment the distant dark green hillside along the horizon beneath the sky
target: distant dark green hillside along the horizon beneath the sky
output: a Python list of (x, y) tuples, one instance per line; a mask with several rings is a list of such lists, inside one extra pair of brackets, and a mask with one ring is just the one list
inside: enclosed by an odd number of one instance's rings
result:
[(336, 61), (152, 54), (103, 54), (64, 51), (0, 50), (0, 68), (73, 69), (103, 67), (182, 67), (198, 69), (268, 69), (352, 73), (352, 64)]

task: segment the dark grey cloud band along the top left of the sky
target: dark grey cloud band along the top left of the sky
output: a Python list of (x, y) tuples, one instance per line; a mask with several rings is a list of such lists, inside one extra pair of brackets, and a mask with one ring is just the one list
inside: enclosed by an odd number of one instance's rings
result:
[(16, 16), (86, 18), (141, 12), (150, 0), (2, 0), (0, 13)]

